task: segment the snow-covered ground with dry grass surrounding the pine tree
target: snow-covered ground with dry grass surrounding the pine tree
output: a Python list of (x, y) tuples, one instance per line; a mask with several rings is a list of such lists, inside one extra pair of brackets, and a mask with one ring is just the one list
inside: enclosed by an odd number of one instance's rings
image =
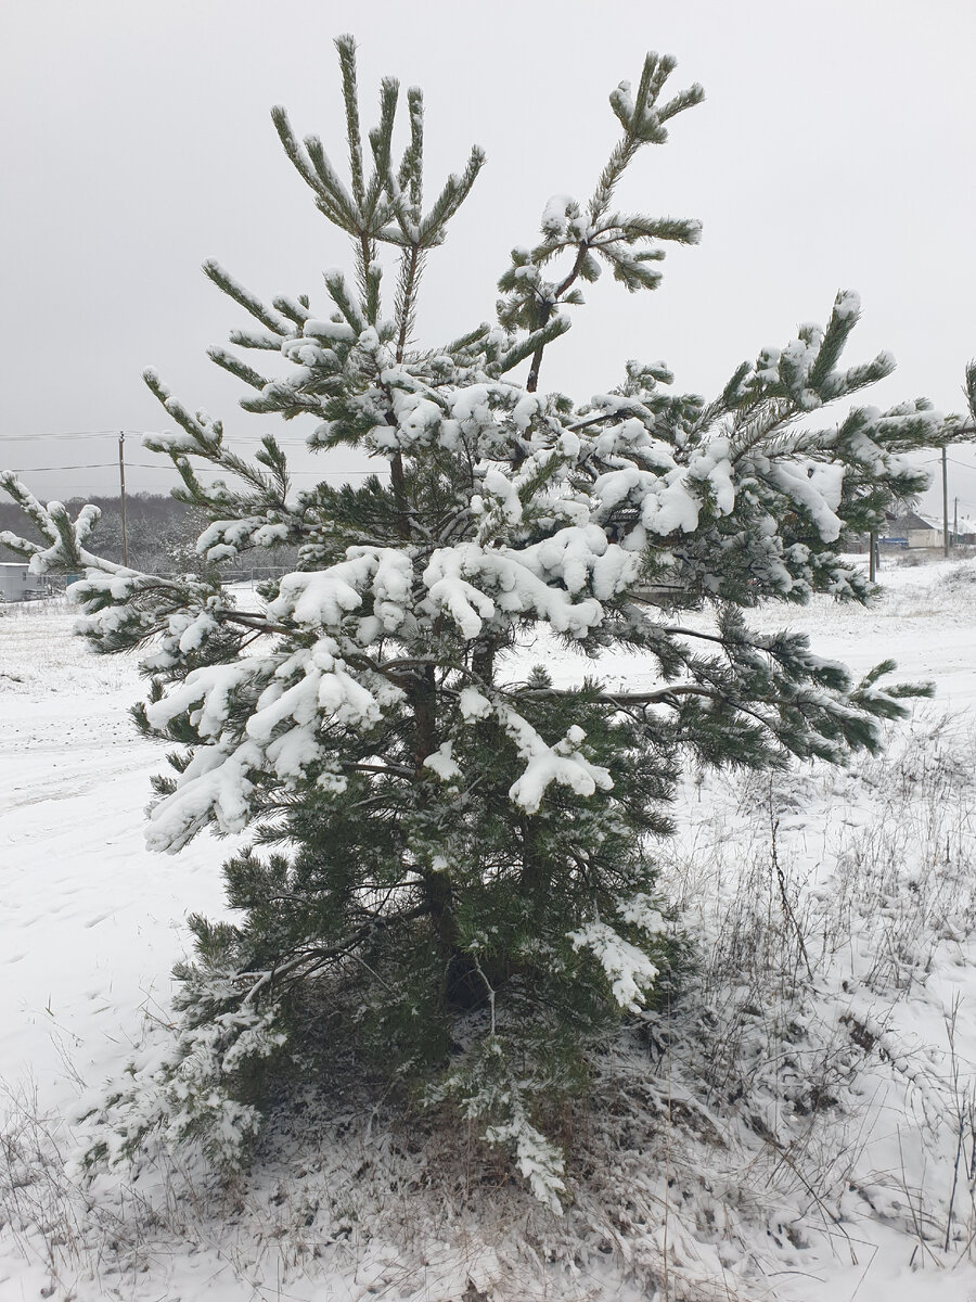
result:
[(359, 1100), (232, 1189), (75, 1176), (62, 1118), (165, 1021), (230, 842), (144, 850), (134, 663), (64, 603), (0, 608), (0, 1302), (976, 1299), (976, 562), (880, 578), (871, 611), (751, 622), (937, 698), (848, 771), (688, 775), (661, 855), (696, 962), (567, 1122), (561, 1220), (468, 1135)]

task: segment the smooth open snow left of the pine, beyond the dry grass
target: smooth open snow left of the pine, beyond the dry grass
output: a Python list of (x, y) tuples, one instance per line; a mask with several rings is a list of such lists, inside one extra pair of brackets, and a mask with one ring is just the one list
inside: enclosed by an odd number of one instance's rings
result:
[(70, 637), (74, 617), (0, 607), (0, 1062), (44, 1108), (66, 1101), (65, 1053), (86, 1079), (115, 1072), (139, 1010), (168, 1003), (185, 914), (223, 911), (224, 846), (146, 850), (164, 751), (129, 717), (144, 684)]

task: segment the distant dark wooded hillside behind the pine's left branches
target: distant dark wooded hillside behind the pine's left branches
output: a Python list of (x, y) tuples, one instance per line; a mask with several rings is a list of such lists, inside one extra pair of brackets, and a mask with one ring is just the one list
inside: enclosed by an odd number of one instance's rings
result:
[[(75, 516), (81, 508), (91, 503), (102, 512), (102, 519), (91, 535), (88, 549), (105, 560), (121, 564), (122, 560), (122, 513), (121, 499), (115, 497), (69, 497), (65, 506)], [(207, 526), (207, 519), (197, 506), (186, 506), (174, 497), (159, 493), (137, 492), (125, 495), (125, 533), (129, 543), (129, 564), (133, 569), (150, 573), (186, 573), (197, 570), (200, 560), (195, 552), (198, 536)], [(0, 530), (9, 530), (43, 542), (36, 529), (26, 516), (10, 501), (0, 501)], [(0, 543), (0, 561), (17, 560), (14, 552)], [(295, 548), (276, 547), (269, 551), (256, 551), (252, 560), (259, 566), (291, 568), (295, 561)]]

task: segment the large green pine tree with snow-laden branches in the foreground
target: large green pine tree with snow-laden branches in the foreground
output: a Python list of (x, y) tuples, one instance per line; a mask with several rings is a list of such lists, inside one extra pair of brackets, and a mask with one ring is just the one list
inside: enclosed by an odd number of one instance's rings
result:
[[(232, 342), (288, 366), (269, 379), (236, 353), (211, 357), (247, 387), (245, 410), (311, 417), (312, 448), (349, 444), (379, 473), (293, 492), (273, 437), (255, 462), (238, 457), (220, 422), (147, 371), (178, 428), (146, 443), (211, 522), (199, 575), (99, 560), (92, 508), (70, 519), (4, 478), (48, 540), (8, 544), (39, 570), (85, 569), (72, 596), (96, 648), (143, 648), (138, 721), (177, 745), (150, 844), (252, 833), (225, 866), (237, 921), (191, 919), (170, 1051), (116, 1091), (104, 1135), (131, 1152), (152, 1128), (203, 1134), (228, 1156), (256, 1126), (262, 1059), (281, 1081), (358, 1055), (479, 1118), (557, 1206), (550, 1109), (673, 962), (655, 838), (682, 762), (843, 762), (903, 710), (908, 689), (881, 682), (890, 664), (854, 682), (803, 637), (750, 631), (743, 612), (811, 592), (865, 600), (841, 540), (917, 492), (925, 477), (902, 454), (960, 422), (911, 402), (811, 423), (893, 367), (882, 354), (839, 368), (852, 293), (711, 401), (674, 392), (662, 363), (629, 362), (582, 406), (539, 391), (582, 284), (609, 266), (627, 290), (653, 289), (662, 245), (699, 238), (695, 221), (616, 207), (635, 155), (701, 99), (699, 86), (668, 98), (674, 60), (656, 55), (636, 90), (610, 95), (622, 135), (592, 198), (550, 201), (539, 241), (513, 251), (497, 323), (419, 346), (424, 264), (483, 156), (428, 203), (420, 91), (407, 91), (394, 160), (400, 90), (383, 82), (364, 148), (354, 43), (336, 44), (349, 177), (284, 109), (272, 116), (319, 211), (350, 237), (354, 277), (327, 272), (316, 315), (305, 296), (265, 305), (208, 262), (255, 322)], [(301, 548), (299, 568), (263, 599), (221, 586), (223, 565), (280, 543)], [(614, 648), (631, 656), (626, 684), (601, 667)]]

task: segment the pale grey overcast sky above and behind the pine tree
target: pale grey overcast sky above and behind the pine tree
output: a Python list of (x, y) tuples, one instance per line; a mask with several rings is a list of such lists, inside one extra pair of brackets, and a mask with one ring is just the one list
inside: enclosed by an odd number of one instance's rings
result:
[[(606, 96), (652, 48), (707, 100), (618, 198), (699, 217), (704, 238), (669, 251), (653, 294), (591, 288), (543, 388), (584, 400), (634, 357), (712, 395), (848, 288), (864, 318), (847, 359), (898, 359), (869, 401), (960, 408), (976, 354), (973, 0), (4, 0), (0, 25), (0, 465), (44, 499), (117, 488), (116, 436), (86, 431), (133, 431), (129, 487), (169, 487), (134, 436), (167, 426), (147, 365), (232, 436), (277, 424), (301, 447), (301, 422), (239, 411), (238, 383), (207, 361), (249, 318), (199, 264), (327, 310), (321, 271), (349, 267), (347, 250), (268, 109), (284, 103), (341, 161), (342, 31), (359, 42), (367, 125), (380, 76), (424, 89), (428, 189), (471, 143), (488, 154), (431, 259), (422, 342), (491, 318), (508, 250), (535, 238), (549, 195), (588, 198), (618, 134)], [(950, 499), (976, 516), (976, 453), (950, 458)], [(307, 456), (295, 464), (310, 484)], [(941, 509), (934, 492), (927, 504)]]

